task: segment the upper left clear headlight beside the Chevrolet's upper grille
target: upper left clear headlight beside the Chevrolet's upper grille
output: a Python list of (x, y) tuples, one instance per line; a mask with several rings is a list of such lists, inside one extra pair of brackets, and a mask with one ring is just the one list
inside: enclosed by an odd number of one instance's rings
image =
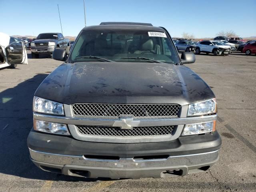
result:
[(64, 115), (63, 104), (34, 97), (34, 112)]

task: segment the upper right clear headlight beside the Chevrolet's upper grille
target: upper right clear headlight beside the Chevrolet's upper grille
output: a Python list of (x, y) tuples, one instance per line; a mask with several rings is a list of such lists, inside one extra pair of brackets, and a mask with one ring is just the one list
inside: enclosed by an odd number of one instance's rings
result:
[(216, 98), (188, 105), (188, 116), (206, 115), (217, 112)]

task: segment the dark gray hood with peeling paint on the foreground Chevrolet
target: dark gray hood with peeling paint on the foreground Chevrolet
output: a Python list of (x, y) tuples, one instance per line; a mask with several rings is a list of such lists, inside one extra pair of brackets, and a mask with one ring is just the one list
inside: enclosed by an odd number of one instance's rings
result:
[(64, 104), (186, 105), (215, 97), (190, 68), (149, 62), (62, 64), (42, 82), (35, 95)]

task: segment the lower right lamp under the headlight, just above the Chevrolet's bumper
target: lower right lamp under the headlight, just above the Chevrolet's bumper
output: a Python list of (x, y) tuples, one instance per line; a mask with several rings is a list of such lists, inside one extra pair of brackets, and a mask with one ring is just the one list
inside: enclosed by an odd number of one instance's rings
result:
[(189, 124), (185, 126), (181, 135), (185, 136), (185, 135), (195, 135), (195, 134), (213, 132), (215, 131), (215, 126), (216, 126), (216, 121)]

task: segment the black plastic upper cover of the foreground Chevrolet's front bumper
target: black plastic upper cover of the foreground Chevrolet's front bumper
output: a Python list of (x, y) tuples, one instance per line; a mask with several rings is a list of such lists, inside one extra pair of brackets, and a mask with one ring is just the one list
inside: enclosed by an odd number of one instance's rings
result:
[[(46, 142), (50, 140), (50, 142)], [(217, 131), (211, 134), (182, 136), (176, 140), (152, 143), (100, 143), (76, 140), (72, 137), (30, 131), (28, 148), (64, 155), (98, 155), (134, 158), (135, 156), (189, 155), (212, 152), (221, 147)]]

